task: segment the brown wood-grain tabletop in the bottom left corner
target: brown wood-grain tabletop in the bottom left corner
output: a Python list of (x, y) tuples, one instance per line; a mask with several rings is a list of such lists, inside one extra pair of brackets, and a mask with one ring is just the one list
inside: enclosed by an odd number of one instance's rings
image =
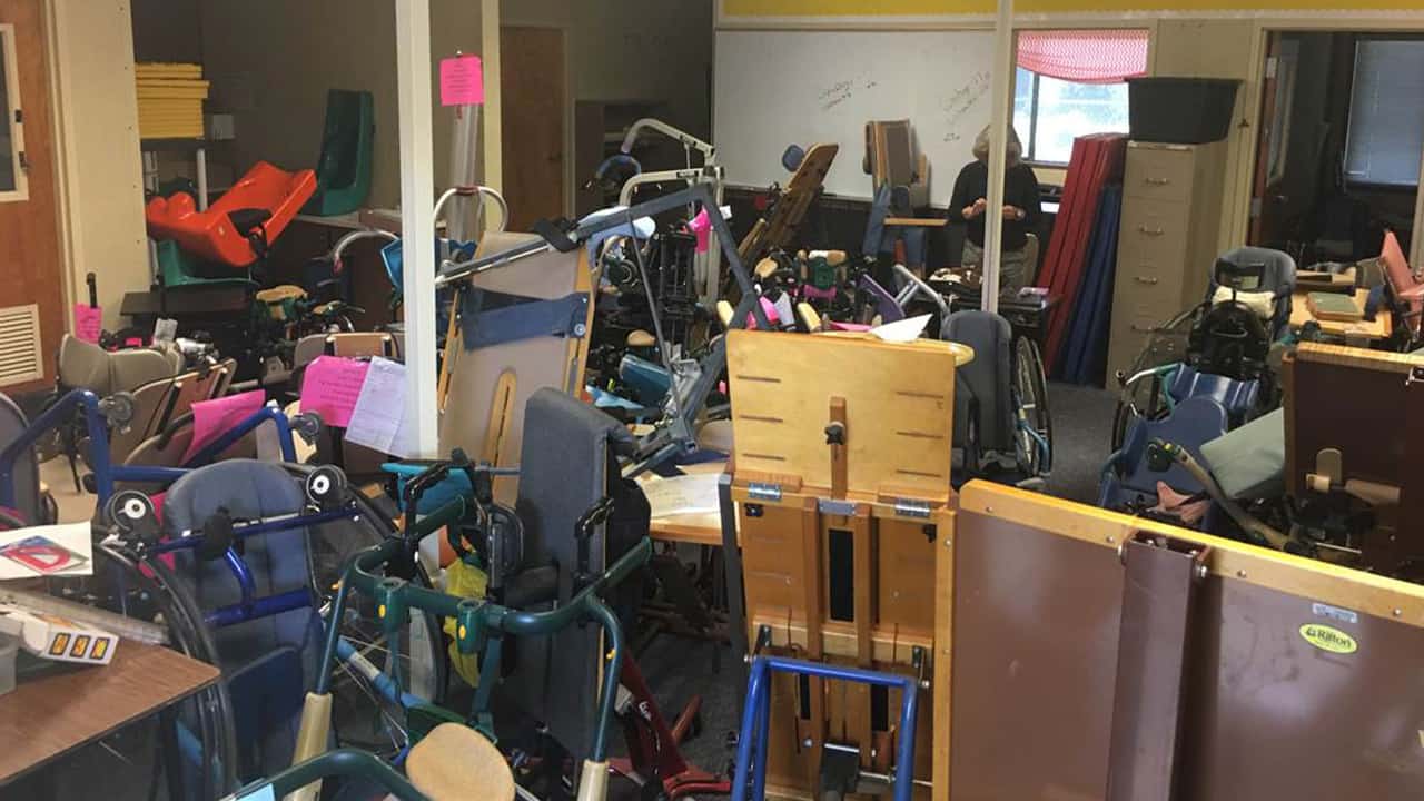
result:
[(214, 684), (218, 668), (122, 640), (114, 661), (23, 680), (0, 696), (0, 784)]

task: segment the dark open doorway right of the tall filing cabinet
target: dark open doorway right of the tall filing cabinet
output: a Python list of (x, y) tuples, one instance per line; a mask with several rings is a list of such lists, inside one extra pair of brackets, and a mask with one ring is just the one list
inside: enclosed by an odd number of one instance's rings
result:
[(1424, 36), (1272, 31), (1249, 244), (1302, 267), (1415, 237), (1424, 157)]

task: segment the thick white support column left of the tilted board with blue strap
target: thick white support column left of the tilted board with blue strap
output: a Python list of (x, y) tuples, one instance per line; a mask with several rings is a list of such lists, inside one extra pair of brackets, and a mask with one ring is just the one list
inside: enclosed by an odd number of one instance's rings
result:
[(406, 403), (419, 456), (439, 448), (436, 409), (434, 158), (430, 140), (430, 1), (396, 0), (400, 241), (406, 309)]

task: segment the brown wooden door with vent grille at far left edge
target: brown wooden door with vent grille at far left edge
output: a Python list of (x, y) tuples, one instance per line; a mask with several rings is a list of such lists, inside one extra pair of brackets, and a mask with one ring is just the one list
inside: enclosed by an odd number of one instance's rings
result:
[(0, 0), (0, 389), (54, 379), (64, 288), (43, 0)]

